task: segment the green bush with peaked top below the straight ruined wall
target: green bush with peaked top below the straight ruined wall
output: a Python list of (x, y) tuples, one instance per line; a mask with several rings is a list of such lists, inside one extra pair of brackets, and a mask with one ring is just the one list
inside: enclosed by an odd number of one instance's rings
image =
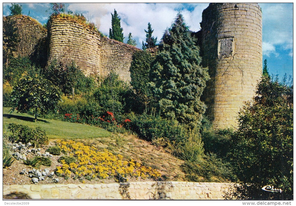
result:
[(131, 106), (126, 103), (126, 100), (132, 95), (131, 93), (127, 83), (120, 80), (117, 74), (111, 72), (94, 92), (94, 99), (102, 107), (103, 112), (112, 112), (115, 118), (120, 121), (123, 119), (123, 113), (128, 112)]

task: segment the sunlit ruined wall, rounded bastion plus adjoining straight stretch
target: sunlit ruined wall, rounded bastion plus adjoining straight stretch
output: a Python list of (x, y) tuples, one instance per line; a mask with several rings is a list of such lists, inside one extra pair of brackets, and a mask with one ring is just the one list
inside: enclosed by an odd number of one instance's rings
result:
[(130, 81), (129, 67), (137, 49), (102, 37), (87, 25), (70, 18), (54, 17), (49, 22), (49, 59), (64, 64), (75, 61), (86, 75), (97, 73), (103, 77), (115, 71), (121, 79)]

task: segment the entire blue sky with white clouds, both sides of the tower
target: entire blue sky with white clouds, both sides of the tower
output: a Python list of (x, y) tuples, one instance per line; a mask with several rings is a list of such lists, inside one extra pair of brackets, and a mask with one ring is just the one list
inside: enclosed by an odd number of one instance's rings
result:
[[(19, 3), (24, 15), (36, 18), (41, 24), (47, 22), (49, 3)], [(3, 16), (9, 15), (10, 3), (3, 4)], [(125, 36), (124, 42), (131, 32), (137, 41), (137, 47), (142, 47), (145, 41), (144, 29), (148, 22), (154, 29), (153, 36), (158, 42), (166, 28), (170, 27), (177, 13), (181, 11), (186, 24), (192, 31), (200, 30), (202, 11), (209, 3), (65, 3), (66, 10), (82, 13), (88, 20), (94, 22), (97, 28), (109, 35), (111, 28), (111, 13), (116, 9), (121, 18), (121, 27)], [(293, 76), (293, 4), (292, 3), (259, 3), (263, 13), (263, 60), (268, 61), (270, 74), (285, 73)]]

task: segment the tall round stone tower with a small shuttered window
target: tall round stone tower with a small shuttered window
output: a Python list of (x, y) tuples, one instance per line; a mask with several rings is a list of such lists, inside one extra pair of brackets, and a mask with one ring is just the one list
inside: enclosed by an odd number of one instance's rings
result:
[(202, 12), (203, 94), (215, 128), (237, 125), (262, 75), (262, 12), (257, 3), (211, 3)]

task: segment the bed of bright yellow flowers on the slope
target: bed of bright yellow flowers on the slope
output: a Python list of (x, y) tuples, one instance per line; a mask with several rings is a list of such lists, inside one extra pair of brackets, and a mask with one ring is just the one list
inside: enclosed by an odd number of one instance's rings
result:
[(58, 140), (57, 144), (61, 147), (62, 152), (77, 159), (75, 163), (69, 165), (62, 160), (63, 165), (57, 166), (56, 174), (65, 178), (73, 177), (80, 180), (91, 180), (94, 178), (109, 178), (115, 175), (141, 178), (160, 177), (157, 170), (142, 166), (133, 159), (130, 161), (124, 160), (122, 155), (113, 155), (106, 149), (99, 152), (93, 146), (89, 147), (82, 142), (73, 140)]

